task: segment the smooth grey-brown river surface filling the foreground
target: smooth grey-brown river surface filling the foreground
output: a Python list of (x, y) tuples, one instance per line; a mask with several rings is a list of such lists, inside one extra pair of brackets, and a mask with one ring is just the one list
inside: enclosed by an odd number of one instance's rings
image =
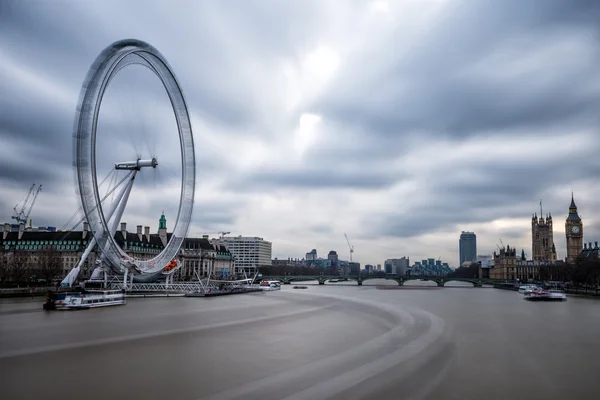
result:
[(600, 301), (318, 286), (43, 312), (0, 302), (5, 399), (590, 399)]

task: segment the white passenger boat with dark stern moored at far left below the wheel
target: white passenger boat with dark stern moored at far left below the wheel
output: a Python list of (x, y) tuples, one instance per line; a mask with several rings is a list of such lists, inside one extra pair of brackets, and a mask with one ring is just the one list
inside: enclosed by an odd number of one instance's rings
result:
[(85, 310), (120, 306), (127, 302), (121, 290), (88, 290), (81, 293), (51, 293), (44, 310)]

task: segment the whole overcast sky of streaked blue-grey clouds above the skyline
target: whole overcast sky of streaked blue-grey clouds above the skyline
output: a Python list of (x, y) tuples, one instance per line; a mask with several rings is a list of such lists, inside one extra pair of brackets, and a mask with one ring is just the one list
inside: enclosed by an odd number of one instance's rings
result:
[[(0, 221), (33, 182), (34, 225), (63, 226), (79, 207), (81, 85), (106, 46), (136, 38), (167, 58), (192, 116), (191, 235), (347, 259), (347, 233), (363, 264), (456, 266), (462, 230), (479, 254), (500, 238), (531, 254), (543, 199), (565, 257), (572, 191), (585, 241), (600, 241), (599, 21), (594, 0), (3, 0)], [(155, 230), (163, 209), (174, 221), (180, 179), (168, 99), (143, 75), (115, 79), (99, 128), (99, 170), (159, 159), (130, 230)]]

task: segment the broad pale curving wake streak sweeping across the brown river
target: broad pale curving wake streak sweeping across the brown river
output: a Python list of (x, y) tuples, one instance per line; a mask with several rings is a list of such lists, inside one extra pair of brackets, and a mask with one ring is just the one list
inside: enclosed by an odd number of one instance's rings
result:
[[(294, 293), (296, 294), (296, 293)], [(385, 391), (401, 382), (403, 399), (422, 399), (441, 381), (453, 359), (454, 347), (448, 340), (444, 320), (416, 309), (400, 309), (377, 302), (329, 294), (299, 295), (330, 297), (354, 303), (352, 307), (371, 308), (382, 314), (389, 330), (358, 346), (282, 371), (266, 378), (214, 393), (207, 400), (264, 399), (277, 393), (286, 400), (398, 398), (397, 391)], [(419, 384), (419, 377), (426, 382)], [(408, 384), (408, 383), (412, 384)], [(410, 388), (408, 386), (411, 386)], [(383, 389), (382, 389), (383, 388)], [(374, 393), (377, 393), (374, 396)]]

